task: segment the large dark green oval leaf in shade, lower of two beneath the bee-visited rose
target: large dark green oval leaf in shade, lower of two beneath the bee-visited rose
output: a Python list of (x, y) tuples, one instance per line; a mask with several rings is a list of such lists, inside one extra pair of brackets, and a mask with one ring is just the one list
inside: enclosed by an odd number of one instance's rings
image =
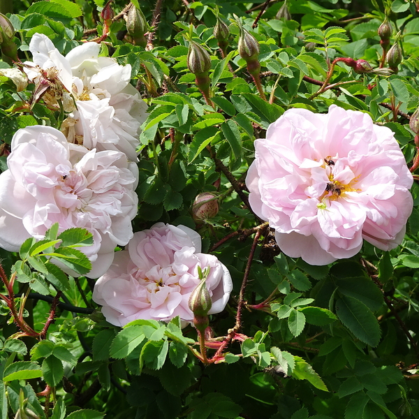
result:
[(359, 300), (346, 295), (336, 302), (336, 314), (355, 337), (369, 346), (377, 346), (381, 330), (372, 311)]

